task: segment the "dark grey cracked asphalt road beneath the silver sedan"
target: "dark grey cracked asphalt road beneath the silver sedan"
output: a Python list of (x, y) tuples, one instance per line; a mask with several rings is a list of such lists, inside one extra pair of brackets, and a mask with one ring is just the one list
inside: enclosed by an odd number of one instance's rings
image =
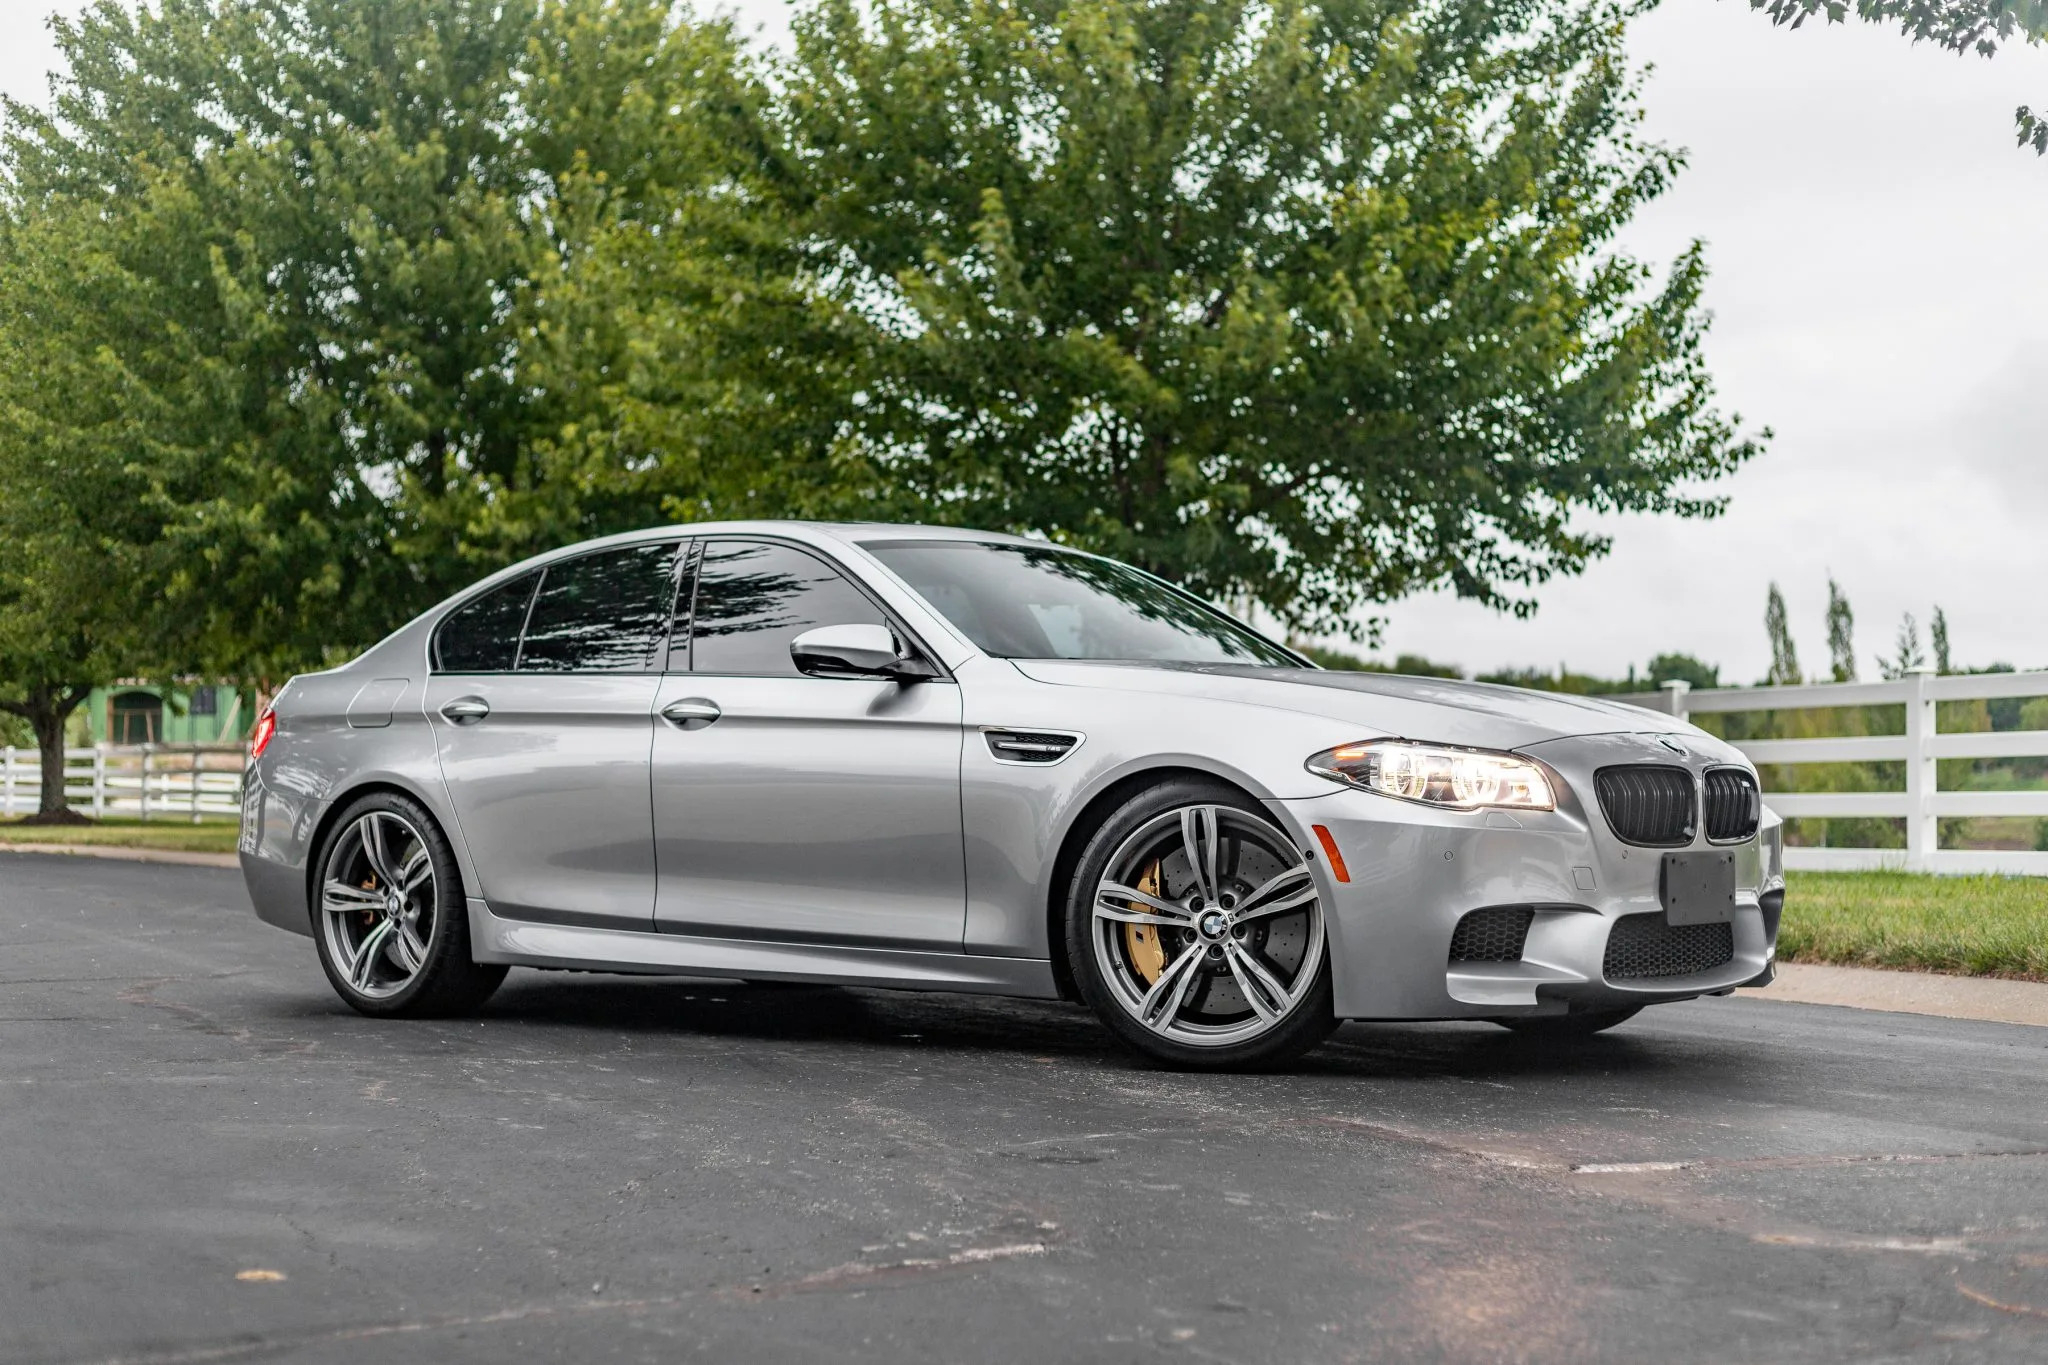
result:
[(881, 990), (373, 1023), (231, 872), (0, 853), (0, 1359), (2040, 1361), (2044, 1062), (1759, 999), (1270, 1076)]

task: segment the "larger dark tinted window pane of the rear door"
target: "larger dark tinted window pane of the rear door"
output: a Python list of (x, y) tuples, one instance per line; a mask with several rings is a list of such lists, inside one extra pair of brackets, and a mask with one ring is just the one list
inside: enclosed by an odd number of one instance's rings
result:
[(653, 667), (676, 598), (676, 544), (635, 544), (547, 567), (526, 618), (520, 673)]

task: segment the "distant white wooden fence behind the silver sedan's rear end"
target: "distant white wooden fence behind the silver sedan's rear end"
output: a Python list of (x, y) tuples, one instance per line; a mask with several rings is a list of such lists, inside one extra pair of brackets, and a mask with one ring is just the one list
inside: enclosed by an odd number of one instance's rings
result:
[[(242, 745), (96, 745), (63, 751), (63, 794), (94, 817), (190, 821), (242, 814)], [(33, 814), (43, 763), (35, 749), (0, 749), (0, 814)]]

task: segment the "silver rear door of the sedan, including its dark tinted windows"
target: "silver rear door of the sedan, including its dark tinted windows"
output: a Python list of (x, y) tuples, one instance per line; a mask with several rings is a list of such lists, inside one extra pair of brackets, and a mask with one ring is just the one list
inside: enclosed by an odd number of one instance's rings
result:
[(651, 927), (647, 749), (676, 559), (662, 542), (557, 561), (436, 632), (428, 720), (498, 915)]

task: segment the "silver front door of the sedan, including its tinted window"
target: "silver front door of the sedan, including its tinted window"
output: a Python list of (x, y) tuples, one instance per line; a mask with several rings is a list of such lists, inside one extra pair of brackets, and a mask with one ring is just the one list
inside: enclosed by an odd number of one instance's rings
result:
[(657, 927), (958, 952), (961, 690), (799, 673), (842, 624), (893, 626), (809, 551), (705, 540), (655, 698)]

